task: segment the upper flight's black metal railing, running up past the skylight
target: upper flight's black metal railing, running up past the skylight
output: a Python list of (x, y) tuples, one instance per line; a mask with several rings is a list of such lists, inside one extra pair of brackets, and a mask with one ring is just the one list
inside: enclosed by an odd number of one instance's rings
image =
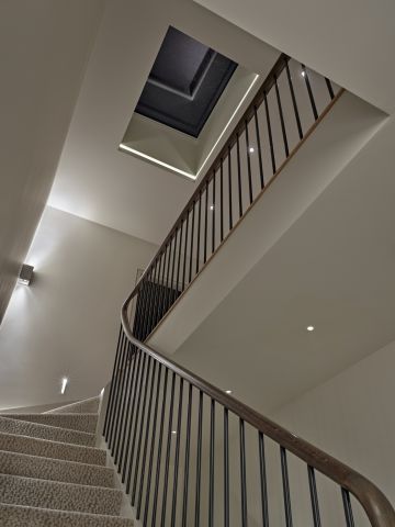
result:
[(341, 92), (281, 55), (136, 285), (138, 339), (154, 330)]

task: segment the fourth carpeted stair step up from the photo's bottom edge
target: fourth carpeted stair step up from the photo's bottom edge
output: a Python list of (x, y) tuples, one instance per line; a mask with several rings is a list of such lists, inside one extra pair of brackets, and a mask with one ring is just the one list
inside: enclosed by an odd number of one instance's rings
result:
[[(105, 450), (0, 431), (0, 450), (105, 467)], [(1, 467), (0, 467), (1, 472)]]

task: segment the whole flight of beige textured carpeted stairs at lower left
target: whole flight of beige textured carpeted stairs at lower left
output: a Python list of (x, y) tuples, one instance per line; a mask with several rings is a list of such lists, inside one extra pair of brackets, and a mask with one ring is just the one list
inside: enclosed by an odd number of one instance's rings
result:
[(100, 397), (43, 414), (0, 414), (0, 525), (133, 527), (97, 448)]

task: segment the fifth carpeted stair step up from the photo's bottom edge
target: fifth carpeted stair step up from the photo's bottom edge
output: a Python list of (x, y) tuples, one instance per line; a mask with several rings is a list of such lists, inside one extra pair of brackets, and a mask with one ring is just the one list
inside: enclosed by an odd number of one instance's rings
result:
[(83, 445), (86, 447), (94, 447), (97, 441), (94, 434), (13, 419), (9, 417), (9, 414), (7, 414), (7, 417), (5, 415), (0, 416), (0, 431), (37, 437), (52, 441), (71, 442), (74, 445)]

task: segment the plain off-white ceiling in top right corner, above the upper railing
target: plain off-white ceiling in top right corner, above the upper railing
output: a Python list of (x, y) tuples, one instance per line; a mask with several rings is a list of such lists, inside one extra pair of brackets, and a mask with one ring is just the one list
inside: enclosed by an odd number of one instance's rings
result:
[(196, 0), (377, 108), (395, 109), (393, 0)]

